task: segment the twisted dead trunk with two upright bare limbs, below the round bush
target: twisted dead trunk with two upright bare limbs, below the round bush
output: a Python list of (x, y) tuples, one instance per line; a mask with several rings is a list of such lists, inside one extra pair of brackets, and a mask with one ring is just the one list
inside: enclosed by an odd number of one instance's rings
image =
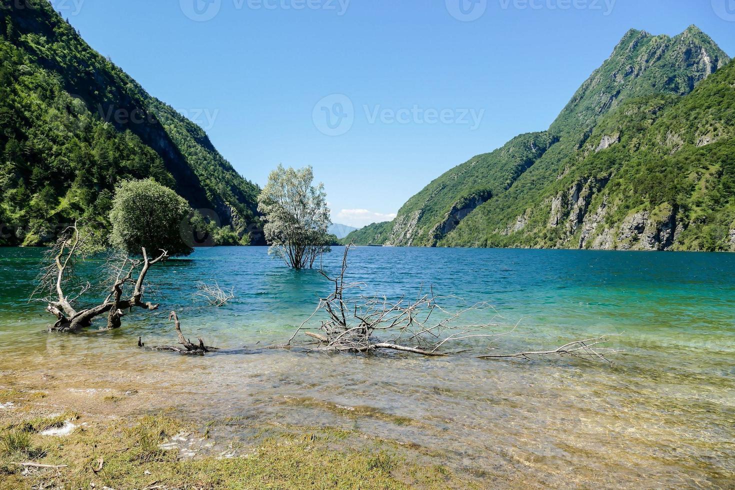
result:
[(152, 265), (168, 259), (168, 252), (159, 251), (151, 259), (145, 248), (141, 249), (141, 258), (112, 256), (108, 261), (107, 298), (90, 308), (76, 308), (79, 299), (91, 287), (88, 282), (79, 284), (75, 268), (92, 240), (93, 233), (81, 230), (75, 223), (66, 228), (48, 253), (49, 264), (42, 271), (32, 297), (46, 302), (46, 311), (57, 318), (49, 331), (79, 331), (102, 315), (107, 315), (107, 328), (118, 328), (126, 310), (158, 309), (157, 304), (143, 300), (146, 275)]

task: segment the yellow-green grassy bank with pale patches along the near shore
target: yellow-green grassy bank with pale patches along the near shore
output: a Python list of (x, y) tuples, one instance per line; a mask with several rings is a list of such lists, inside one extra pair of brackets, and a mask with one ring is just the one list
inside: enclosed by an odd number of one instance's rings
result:
[[(0, 489), (466, 488), (400, 445), (329, 428), (261, 428), (223, 439), (232, 419), (199, 430), (171, 414), (37, 414), (40, 392), (0, 391)], [(75, 425), (65, 436), (43, 431)], [(355, 444), (356, 442), (356, 444)], [(223, 450), (222, 450), (223, 449)], [(21, 466), (20, 463), (58, 467)]]

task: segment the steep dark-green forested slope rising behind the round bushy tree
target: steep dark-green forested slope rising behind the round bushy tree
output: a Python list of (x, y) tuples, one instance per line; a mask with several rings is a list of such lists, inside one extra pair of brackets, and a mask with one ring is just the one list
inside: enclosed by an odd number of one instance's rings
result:
[(0, 244), (40, 244), (75, 218), (106, 222), (115, 184), (146, 177), (223, 225), (257, 223), (259, 188), (48, 1), (2, 2), (0, 36)]

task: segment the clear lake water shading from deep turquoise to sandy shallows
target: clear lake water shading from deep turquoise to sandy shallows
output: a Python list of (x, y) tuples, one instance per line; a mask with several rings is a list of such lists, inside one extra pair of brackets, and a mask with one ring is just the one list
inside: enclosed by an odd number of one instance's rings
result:
[[(0, 249), (0, 370), (25, 381), (53, 376), (65, 389), (137, 386), (156, 394), (140, 409), (357, 428), (438, 451), (487, 480), (735, 485), (735, 255), (351, 253), (348, 279), (364, 281), (368, 292), (415, 295), (423, 283), (463, 298), (451, 306), (489, 301), (508, 325), (520, 321), (523, 333), (498, 343), (508, 352), (622, 334), (613, 346), (625, 353), (613, 367), (259, 350), (284, 342), (330, 287), (265, 248), (199, 249), (171, 260), (150, 274), (165, 293), (159, 311), (134, 312), (118, 331), (47, 334), (43, 306), (27, 302), (40, 256)], [(336, 271), (341, 256), (335, 249), (325, 268)], [(237, 299), (221, 309), (193, 303), (196, 283), (215, 280), (234, 287)], [(148, 345), (174, 342), (172, 309), (187, 336), (246, 348), (196, 359), (138, 349), (138, 336)], [(340, 406), (369, 410), (345, 417)]]

